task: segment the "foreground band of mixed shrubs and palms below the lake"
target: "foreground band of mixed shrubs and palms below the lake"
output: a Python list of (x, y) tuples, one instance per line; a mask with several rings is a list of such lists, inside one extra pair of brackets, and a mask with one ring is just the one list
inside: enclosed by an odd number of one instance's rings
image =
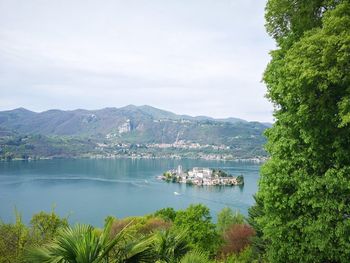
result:
[[(161, 211), (175, 212), (173, 209)], [(79, 224), (70, 226), (66, 218), (60, 218), (54, 211), (35, 214), (31, 224), (25, 225), (17, 213), (14, 223), (0, 222), (0, 263), (214, 262), (212, 259), (222, 252), (222, 239), (211, 222), (209, 209), (192, 205), (175, 213), (174, 222), (161, 219), (162, 213), (158, 212), (155, 213), (158, 216), (124, 219), (108, 216), (101, 229)], [(235, 218), (231, 210), (229, 214)], [(238, 242), (240, 245), (242, 240)], [(252, 262), (253, 259), (252, 250), (247, 247), (239, 254), (230, 252), (229, 262)], [(217, 258), (215, 262), (226, 260)]]

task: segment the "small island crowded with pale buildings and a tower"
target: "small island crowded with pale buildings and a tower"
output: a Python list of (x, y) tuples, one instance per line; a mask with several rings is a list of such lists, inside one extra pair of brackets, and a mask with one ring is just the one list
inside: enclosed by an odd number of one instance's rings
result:
[(191, 170), (183, 171), (179, 165), (177, 169), (166, 171), (162, 176), (158, 177), (167, 182), (186, 183), (192, 185), (244, 185), (243, 175), (232, 176), (220, 169), (194, 167)]

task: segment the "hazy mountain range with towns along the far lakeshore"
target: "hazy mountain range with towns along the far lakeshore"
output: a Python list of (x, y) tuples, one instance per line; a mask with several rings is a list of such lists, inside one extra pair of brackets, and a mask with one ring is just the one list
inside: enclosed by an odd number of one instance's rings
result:
[(264, 161), (269, 123), (177, 115), (151, 106), (0, 112), (0, 158), (202, 158)]

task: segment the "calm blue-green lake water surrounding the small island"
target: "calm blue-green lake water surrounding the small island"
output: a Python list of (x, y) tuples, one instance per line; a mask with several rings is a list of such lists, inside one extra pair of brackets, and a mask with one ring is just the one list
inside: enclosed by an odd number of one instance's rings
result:
[[(164, 171), (223, 168), (244, 175), (244, 187), (198, 187), (156, 179)], [(254, 203), (260, 166), (206, 160), (40, 160), (0, 162), (0, 220), (13, 221), (14, 209), (29, 222), (33, 214), (53, 206), (70, 222), (102, 226), (104, 218), (144, 215), (164, 207), (208, 206), (214, 217), (225, 206), (247, 215)], [(174, 192), (180, 193), (175, 195)]]

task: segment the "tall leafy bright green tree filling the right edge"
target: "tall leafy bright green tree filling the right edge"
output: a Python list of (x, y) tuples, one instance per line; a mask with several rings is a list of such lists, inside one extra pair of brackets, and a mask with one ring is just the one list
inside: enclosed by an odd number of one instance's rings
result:
[(350, 3), (269, 0), (276, 122), (252, 222), (270, 262), (350, 258)]

